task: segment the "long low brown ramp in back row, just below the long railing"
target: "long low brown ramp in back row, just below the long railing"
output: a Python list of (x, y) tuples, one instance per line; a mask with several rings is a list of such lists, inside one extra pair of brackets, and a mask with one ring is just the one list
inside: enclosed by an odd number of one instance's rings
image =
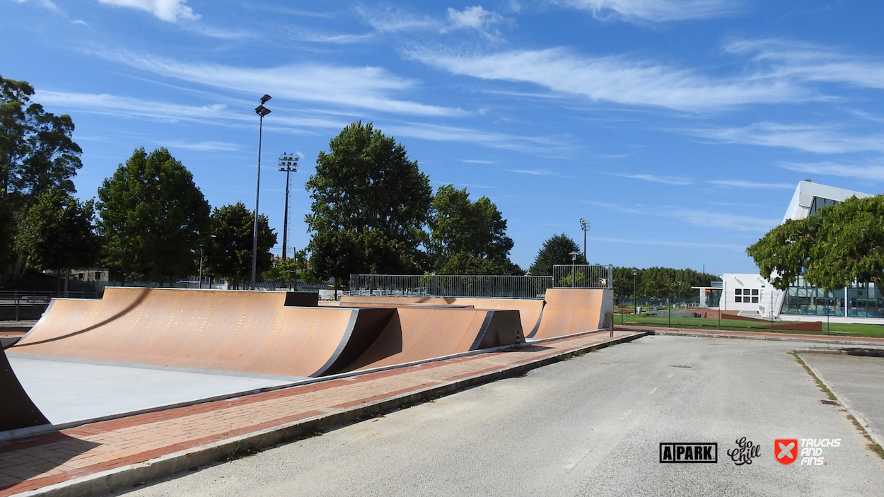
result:
[(361, 295), (344, 295), (340, 298), (341, 305), (378, 304), (378, 305), (414, 305), (438, 304), (472, 306), (475, 309), (518, 310), (522, 321), (522, 331), (528, 335), (537, 331), (540, 317), (544, 310), (544, 301), (537, 299), (470, 299), (465, 297), (370, 297)]

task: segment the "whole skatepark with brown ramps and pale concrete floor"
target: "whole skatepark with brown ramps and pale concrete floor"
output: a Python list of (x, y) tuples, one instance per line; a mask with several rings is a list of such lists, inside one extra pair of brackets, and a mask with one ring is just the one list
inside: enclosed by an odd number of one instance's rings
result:
[(100, 300), (54, 299), (5, 350), (4, 391), (19, 400), (4, 409), (0, 440), (592, 332), (604, 325), (608, 292), (318, 302), (315, 294), (109, 287)]

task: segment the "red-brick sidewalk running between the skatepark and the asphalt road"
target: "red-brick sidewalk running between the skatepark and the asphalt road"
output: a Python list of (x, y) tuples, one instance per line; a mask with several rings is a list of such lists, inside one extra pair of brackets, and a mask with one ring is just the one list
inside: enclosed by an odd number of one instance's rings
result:
[(131, 486), (644, 334), (588, 333), (0, 441), (0, 497)]

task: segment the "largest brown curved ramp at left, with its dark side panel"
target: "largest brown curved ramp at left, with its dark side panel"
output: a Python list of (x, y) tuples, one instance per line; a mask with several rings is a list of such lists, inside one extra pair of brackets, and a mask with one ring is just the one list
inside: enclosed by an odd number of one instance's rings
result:
[(361, 356), (394, 312), (285, 302), (282, 292), (108, 287), (101, 301), (54, 300), (8, 352), (319, 376)]

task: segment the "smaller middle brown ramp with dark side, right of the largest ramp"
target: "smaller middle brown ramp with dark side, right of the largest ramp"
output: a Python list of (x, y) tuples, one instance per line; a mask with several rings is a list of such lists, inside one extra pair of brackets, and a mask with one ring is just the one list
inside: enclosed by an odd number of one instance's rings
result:
[(450, 356), (524, 341), (515, 310), (400, 307), (374, 344), (342, 371)]

